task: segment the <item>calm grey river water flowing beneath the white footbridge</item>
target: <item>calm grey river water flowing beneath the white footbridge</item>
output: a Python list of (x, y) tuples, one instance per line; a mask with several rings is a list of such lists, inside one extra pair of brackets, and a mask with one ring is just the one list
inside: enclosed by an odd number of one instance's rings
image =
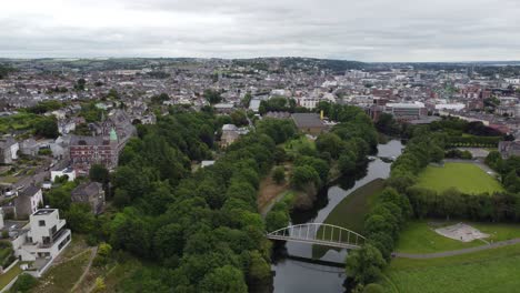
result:
[[(378, 145), (379, 156), (399, 156), (402, 144), (392, 140), (387, 144)], [(387, 179), (390, 174), (390, 164), (376, 159), (368, 163), (367, 172), (350, 182), (340, 182), (330, 186), (320, 194), (312, 211), (292, 215), (293, 224), (322, 223), (329, 213), (346, 196), (358, 188), (374, 179)], [(334, 262), (340, 265), (323, 264), (312, 261), (312, 245), (287, 242), (283, 246), (277, 245), (274, 250), (272, 270), (274, 293), (313, 293), (313, 292), (343, 292), (344, 270), (342, 263), (347, 255), (346, 250), (329, 250), (319, 261)], [(296, 256), (296, 257), (294, 257)], [(296, 260), (298, 259), (298, 260)], [(308, 260), (308, 261), (306, 261)]]

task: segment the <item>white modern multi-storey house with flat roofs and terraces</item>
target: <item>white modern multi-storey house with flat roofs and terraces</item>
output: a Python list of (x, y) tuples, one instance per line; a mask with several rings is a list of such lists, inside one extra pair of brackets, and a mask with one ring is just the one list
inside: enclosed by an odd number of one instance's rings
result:
[(14, 255), (32, 262), (28, 273), (40, 276), (71, 241), (66, 220), (57, 209), (40, 209), (29, 218), (22, 229), (9, 232)]

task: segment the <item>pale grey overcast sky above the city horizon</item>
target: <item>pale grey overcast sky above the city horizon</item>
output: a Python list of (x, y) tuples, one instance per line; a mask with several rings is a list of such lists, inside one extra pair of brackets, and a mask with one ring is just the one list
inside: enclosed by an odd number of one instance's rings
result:
[(1, 0), (0, 58), (520, 60), (519, 0)]

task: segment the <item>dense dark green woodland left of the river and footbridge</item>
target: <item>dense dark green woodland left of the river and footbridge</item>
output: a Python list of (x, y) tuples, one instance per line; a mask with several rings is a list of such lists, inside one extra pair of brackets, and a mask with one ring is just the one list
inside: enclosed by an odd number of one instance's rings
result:
[(139, 125), (139, 138), (121, 154), (112, 183), (122, 210), (106, 240), (159, 264), (139, 271), (140, 285), (124, 290), (247, 292), (270, 277), (257, 191), (274, 163), (276, 142), (296, 130), (288, 121), (261, 121), (216, 164), (191, 174), (190, 161), (211, 158), (219, 121), (173, 108), (157, 125)]

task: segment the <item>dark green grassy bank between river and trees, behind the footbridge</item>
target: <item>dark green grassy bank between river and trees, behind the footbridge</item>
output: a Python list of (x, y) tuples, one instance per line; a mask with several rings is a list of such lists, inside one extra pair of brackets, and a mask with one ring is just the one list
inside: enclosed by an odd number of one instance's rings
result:
[[(361, 188), (354, 190), (346, 196), (336, 208), (329, 213), (323, 221), (326, 224), (338, 225), (357, 233), (363, 234), (364, 216), (370, 211), (370, 208), (377, 201), (378, 195), (384, 188), (384, 180), (376, 179)], [(321, 235), (322, 230), (318, 230)], [(324, 231), (324, 238), (330, 236), (329, 231)], [(344, 240), (347, 235), (344, 235)], [(342, 236), (343, 239), (343, 236)], [(314, 245), (312, 247), (312, 257), (319, 259), (331, 247)]]

